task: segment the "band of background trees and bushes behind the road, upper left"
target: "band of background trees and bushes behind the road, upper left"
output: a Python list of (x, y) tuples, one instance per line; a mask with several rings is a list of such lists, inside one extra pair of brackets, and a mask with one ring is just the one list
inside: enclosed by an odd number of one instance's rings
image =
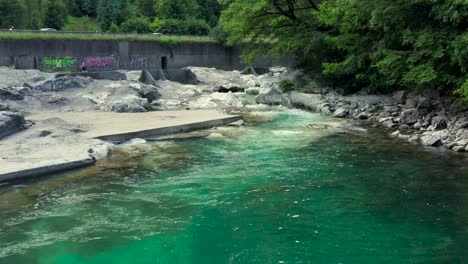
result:
[(222, 7), (217, 0), (0, 0), (0, 28), (146, 33), (155, 21), (151, 29), (207, 35)]

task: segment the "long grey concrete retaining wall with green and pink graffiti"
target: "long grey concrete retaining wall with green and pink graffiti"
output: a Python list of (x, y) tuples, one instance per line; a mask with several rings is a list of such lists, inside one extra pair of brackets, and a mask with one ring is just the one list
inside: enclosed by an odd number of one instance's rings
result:
[[(216, 43), (168, 45), (149, 41), (0, 40), (0, 66), (43, 71), (180, 69), (186, 66), (242, 70), (238, 48)], [(259, 58), (255, 67), (273, 66)], [(278, 65), (292, 66), (292, 57)]]

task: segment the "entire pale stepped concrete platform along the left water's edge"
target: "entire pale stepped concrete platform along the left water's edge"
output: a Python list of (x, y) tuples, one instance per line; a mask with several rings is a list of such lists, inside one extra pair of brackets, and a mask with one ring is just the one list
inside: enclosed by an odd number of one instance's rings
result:
[(242, 117), (199, 110), (41, 112), (28, 119), (36, 123), (32, 128), (0, 141), (0, 182), (92, 165), (97, 152), (107, 155), (104, 141), (124, 142), (190, 132), (229, 124)]

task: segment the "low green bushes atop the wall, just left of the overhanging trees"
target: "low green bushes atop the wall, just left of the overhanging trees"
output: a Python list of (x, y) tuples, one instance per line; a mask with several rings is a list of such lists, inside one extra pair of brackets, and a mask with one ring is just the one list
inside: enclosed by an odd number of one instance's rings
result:
[(155, 30), (163, 34), (174, 35), (208, 35), (210, 26), (200, 19), (166, 19), (153, 23)]

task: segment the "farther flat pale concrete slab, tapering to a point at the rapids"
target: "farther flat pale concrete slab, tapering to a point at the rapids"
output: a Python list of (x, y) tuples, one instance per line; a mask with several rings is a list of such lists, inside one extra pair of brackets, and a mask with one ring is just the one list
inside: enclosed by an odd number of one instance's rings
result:
[(33, 122), (60, 118), (86, 130), (81, 133), (83, 137), (113, 142), (207, 129), (242, 119), (241, 116), (226, 115), (215, 110), (146, 113), (44, 112), (28, 118)]

